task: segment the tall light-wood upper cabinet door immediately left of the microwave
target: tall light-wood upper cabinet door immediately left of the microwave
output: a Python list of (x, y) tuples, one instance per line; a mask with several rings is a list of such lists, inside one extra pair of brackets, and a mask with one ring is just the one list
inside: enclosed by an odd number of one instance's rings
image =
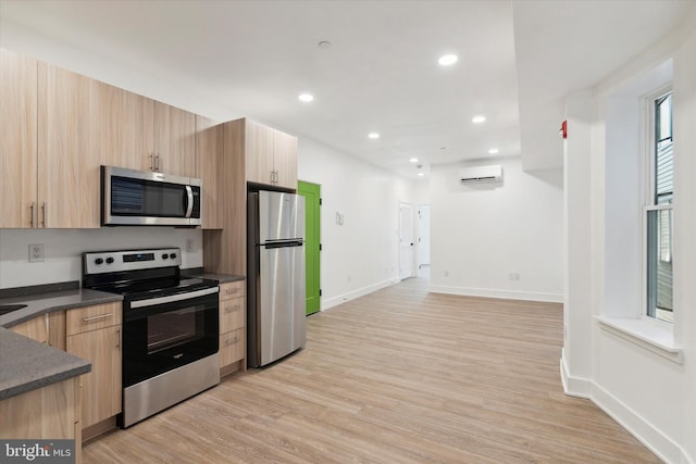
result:
[(99, 83), (39, 63), (38, 225), (100, 226)]

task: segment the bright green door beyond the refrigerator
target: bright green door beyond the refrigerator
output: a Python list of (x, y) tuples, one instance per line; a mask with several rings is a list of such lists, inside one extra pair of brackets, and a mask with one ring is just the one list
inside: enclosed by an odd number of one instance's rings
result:
[(309, 315), (314, 314), (321, 308), (321, 186), (299, 180), (297, 183), (297, 192), (304, 197), (304, 266), (307, 274), (307, 314)]

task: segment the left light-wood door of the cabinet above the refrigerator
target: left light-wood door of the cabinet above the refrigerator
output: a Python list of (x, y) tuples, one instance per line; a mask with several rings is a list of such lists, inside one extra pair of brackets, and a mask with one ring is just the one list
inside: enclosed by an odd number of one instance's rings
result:
[(259, 184), (274, 184), (273, 133), (253, 121), (245, 120), (245, 161), (247, 180)]

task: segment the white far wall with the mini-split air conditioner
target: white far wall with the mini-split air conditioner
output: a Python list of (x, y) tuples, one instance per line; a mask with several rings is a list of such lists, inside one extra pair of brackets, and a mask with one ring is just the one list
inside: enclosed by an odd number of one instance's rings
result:
[(431, 290), (560, 302), (562, 172), (495, 163), (502, 184), (462, 185), (464, 164), (431, 167)]

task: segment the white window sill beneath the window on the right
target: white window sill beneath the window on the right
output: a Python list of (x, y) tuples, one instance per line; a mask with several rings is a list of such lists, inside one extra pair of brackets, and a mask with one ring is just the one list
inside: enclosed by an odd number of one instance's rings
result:
[(684, 363), (684, 350), (675, 347), (672, 327), (637, 318), (595, 316), (599, 327), (617, 337), (659, 354), (673, 363)]

